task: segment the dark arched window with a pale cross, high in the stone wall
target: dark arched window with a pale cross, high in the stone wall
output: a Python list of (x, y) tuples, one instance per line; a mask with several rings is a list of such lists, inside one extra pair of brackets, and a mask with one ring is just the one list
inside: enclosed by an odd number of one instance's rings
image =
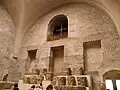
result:
[(48, 25), (47, 41), (68, 37), (68, 19), (65, 15), (55, 16)]

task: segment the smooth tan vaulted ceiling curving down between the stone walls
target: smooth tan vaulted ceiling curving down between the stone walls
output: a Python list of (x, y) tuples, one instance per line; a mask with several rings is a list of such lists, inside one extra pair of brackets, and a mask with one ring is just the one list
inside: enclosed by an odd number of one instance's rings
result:
[(16, 47), (19, 47), (24, 32), (45, 13), (70, 2), (96, 3), (105, 8), (113, 17), (120, 34), (120, 0), (0, 0), (16, 27)]

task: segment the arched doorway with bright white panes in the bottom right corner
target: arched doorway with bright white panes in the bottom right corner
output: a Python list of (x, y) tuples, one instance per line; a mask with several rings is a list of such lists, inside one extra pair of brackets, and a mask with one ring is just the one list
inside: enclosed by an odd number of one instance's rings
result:
[(103, 75), (107, 90), (120, 90), (120, 70), (110, 70)]

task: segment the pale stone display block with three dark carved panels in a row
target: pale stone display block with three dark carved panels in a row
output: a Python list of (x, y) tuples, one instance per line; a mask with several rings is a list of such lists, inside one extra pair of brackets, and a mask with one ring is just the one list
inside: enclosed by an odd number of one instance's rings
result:
[(55, 90), (92, 90), (90, 75), (57, 76)]

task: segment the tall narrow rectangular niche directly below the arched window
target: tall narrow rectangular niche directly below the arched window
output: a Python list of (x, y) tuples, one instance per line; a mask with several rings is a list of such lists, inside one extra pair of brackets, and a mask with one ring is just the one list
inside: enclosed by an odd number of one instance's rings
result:
[(53, 72), (54, 75), (60, 74), (64, 66), (64, 46), (51, 47), (50, 56), (50, 71)]

